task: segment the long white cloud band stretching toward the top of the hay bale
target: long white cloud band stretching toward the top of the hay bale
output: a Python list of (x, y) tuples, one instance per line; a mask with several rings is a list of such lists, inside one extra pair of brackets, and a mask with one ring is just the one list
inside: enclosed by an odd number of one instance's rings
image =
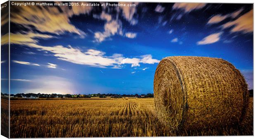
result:
[(39, 51), (48, 51), (60, 60), (71, 63), (90, 65), (94, 67), (110, 67), (120, 68), (121, 64), (132, 64), (132, 67), (140, 66), (140, 63), (154, 64), (159, 60), (152, 59), (151, 55), (140, 56), (140, 58), (124, 58), (121, 54), (113, 54), (113, 56), (104, 56), (104, 52), (89, 49), (85, 52), (72, 46), (39, 46), (37, 44), (26, 44), (29, 47), (38, 49)]

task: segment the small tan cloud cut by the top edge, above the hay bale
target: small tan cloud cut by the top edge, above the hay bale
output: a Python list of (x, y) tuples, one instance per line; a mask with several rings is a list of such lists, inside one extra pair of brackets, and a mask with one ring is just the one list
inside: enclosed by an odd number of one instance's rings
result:
[(206, 3), (175, 3), (173, 9), (183, 9), (185, 12), (201, 9)]

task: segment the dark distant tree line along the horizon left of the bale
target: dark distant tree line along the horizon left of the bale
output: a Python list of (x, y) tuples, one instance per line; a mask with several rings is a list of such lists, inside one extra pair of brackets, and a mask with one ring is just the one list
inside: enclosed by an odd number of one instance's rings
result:
[[(1, 96), (6, 96), (8, 97), (8, 94), (3, 94), (1, 93)], [(97, 94), (78, 94), (78, 95), (71, 95), (71, 94), (34, 94), (34, 93), (18, 93), (18, 94), (11, 94), (10, 97), (20, 97), (20, 98), (90, 98), (90, 97), (100, 97), (100, 98), (105, 98), (105, 97), (111, 97), (111, 98), (122, 98), (122, 97), (138, 97), (138, 98), (145, 98), (145, 97), (154, 97), (153, 93), (147, 93), (147, 94), (135, 94), (135, 95), (120, 95), (120, 94), (112, 94), (112, 93), (108, 93), (108, 94), (101, 94), (101, 93), (97, 93)]]

